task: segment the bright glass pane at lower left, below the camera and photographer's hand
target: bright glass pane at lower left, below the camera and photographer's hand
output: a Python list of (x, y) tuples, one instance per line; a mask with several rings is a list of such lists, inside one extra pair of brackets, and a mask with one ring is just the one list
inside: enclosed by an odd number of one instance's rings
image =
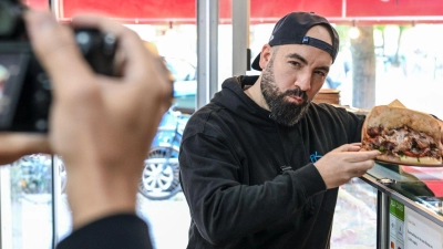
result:
[[(9, 185), (2, 185), (2, 234), (8, 247), (52, 248), (52, 166), (51, 156), (29, 155), (2, 169)], [(2, 177), (4, 179), (4, 177)]]

